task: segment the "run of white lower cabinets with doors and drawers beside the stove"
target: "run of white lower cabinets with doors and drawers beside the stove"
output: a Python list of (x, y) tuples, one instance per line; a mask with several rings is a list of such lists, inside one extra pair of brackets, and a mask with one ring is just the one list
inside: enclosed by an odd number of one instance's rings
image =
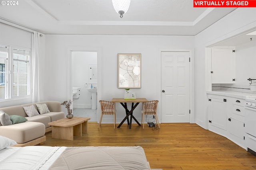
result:
[(246, 149), (244, 99), (208, 94), (208, 129)]

